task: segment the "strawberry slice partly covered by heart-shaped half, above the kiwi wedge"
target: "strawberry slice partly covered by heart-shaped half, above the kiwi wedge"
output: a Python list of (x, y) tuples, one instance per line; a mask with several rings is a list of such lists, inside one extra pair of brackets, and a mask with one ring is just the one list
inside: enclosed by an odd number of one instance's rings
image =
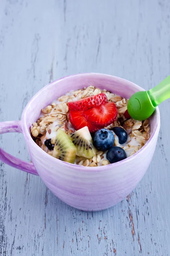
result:
[(69, 118), (75, 130), (79, 130), (85, 126), (88, 126), (89, 131), (93, 133), (100, 129), (94, 126), (91, 122), (87, 121), (84, 116), (84, 111), (70, 111)]

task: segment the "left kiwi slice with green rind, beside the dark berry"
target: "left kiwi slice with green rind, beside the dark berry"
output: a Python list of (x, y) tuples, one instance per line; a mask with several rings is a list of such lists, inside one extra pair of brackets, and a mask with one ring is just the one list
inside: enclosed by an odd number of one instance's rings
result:
[(62, 130), (57, 131), (56, 143), (54, 145), (53, 157), (68, 163), (74, 163), (77, 148), (71, 138)]

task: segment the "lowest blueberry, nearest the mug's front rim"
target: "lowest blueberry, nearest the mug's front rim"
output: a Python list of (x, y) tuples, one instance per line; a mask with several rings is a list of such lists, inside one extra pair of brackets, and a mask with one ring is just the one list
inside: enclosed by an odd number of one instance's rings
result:
[(127, 158), (127, 155), (123, 148), (112, 147), (108, 150), (106, 158), (109, 160), (110, 163), (116, 163)]

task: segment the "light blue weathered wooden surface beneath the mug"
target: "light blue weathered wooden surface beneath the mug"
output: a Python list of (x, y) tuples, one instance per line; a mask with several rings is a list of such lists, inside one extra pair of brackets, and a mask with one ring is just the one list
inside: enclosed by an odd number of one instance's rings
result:
[[(50, 81), (83, 72), (145, 89), (170, 75), (170, 1), (0, 1), (0, 121), (20, 119)], [(159, 140), (142, 182), (102, 212), (71, 208), (39, 177), (0, 163), (0, 255), (170, 255), (169, 109), (169, 100), (160, 106)], [(5, 134), (0, 145), (29, 160), (22, 135)]]

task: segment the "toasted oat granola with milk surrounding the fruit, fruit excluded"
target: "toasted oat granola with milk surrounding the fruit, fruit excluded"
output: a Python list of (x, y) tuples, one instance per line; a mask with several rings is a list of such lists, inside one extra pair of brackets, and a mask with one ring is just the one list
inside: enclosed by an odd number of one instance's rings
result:
[[(109, 91), (95, 88), (94, 86), (66, 93), (52, 102), (51, 105), (43, 108), (40, 118), (30, 127), (31, 135), (35, 143), (45, 152), (53, 155), (53, 152), (45, 146), (45, 140), (51, 139), (51, 145), (54, 145), (58, 130), (65, 131), (68, 135), (75, 131), (69, 120), (68, 102), (74, 102), (99, 93), (105, 93), (108, 102), (114, 102), (118, 112), (116, 121), (105, 128), (110, 130), (115, 126), (123, 127), (128, 134), (127, 142), (122, 145), (119, 144), (119, 139), (116, 134), (114, 134), (114, 146), (123, 148), (126, 151), (127, 157), (139, 151), (150, 138), (149, 120), (136, 121), (134, 119), (125, 119), (124, 113), (127, 110), (128, 99), (122, 98)], [(106, 159), (106, 152), (97, 151), (91, 159), (77, 156), (75, 164), (96, 167), (108, 165), (109, 161)]]

